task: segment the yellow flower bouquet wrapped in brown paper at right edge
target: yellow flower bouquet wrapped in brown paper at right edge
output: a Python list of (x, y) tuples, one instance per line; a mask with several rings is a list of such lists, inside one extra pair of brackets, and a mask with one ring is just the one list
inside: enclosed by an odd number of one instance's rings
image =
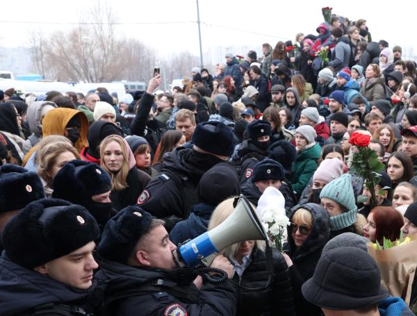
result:
[(417, 267), (417, 234), (391, 242), (384, 238), (384, 244), (368, 242), (368, 253), (381, 271), (381, 284), (394, 297), (402, 297), (410, 305), (411, 285)]

